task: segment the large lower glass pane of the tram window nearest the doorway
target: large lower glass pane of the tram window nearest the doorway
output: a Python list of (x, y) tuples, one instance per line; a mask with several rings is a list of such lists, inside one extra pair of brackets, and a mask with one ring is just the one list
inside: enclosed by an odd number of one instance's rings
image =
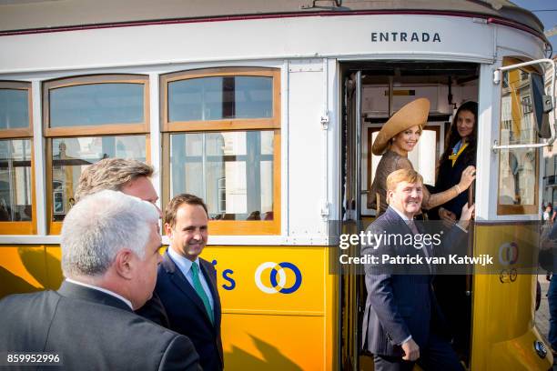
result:
[(170, 135), (170, 196), (201, 196), (211, 219), (272, 220), (273, 137), (273, 131)]

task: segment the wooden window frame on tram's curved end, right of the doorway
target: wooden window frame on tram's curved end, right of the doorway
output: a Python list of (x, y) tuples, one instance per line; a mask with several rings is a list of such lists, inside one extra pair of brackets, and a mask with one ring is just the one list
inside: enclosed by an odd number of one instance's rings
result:
[[(523, 62), (527, 62), (528, 60), (522, 57), (515, 57), (515, 56), (505, 56), (503, 57), (503, 66), (509, 66), (509, 65), (514, 65), (514, 64), (520, 64)], [(520, 82), (523, 81), (527, 81), (528, 78), (527, 76), (530, 73), (538, 73), (540, 74), (541, 71), (535, 66), (535, 65), (527, 65), (527, 66), (523, 66), (523, 67), (519, 67), (517, 68), (518, 70), (518, 80)], [(505, 81), (507, 81), (507, 84), (505, 85), (501, 85), (501, 89), (499, 91), (500, 93), (500, 117), (499, 117), (499, 141), (500, 143), (502, 143), (502, 139), (501, 139), (501, 135), (502, 135), (502, 128), (503, 128), (503, 121), (502, 121), (502, 109), (503, 109), (503, 90), (504, 89), (509, 89), (510, 87), (510, 82), (509, 82), (509, 74), (511, 73), (512, 70), (509, 71), (505, 71), (503, 72), (503, 79)], [(522, 106), (522, 99), (519, 102), (520, 105), (517, 105), (517, 109), (518, 109), (518, 114), (519, 115), (526, 115), (529, 114), (529, 112), (524, 111), (524, 107)], [(511, 120), (511, 125), (512, 125), (512, 120)], [(534, 125), (534, 129), (535, 129), (535, 123), (532, 124)], [(535, 134), (535, 133), (534, 133)], [(535, 138), (537, 138), (537, 135), (534, 135)], [(518, 151), (520, 151), (521, 149), (518, 149)], [(535, 177), (534, 177), (534, 181), (532, 182), (533, 184), (533, 191), (534, 191), (534, 195), (533, 195), (533, 204), (525, 204), (525, 205), (507, 205), (507, 204), (501, 204), (500, 203), (500, 199), (501, 199), (501, 155), (512, 155), (515, 153), (515, 151), (517, 150), (513, 150), (513, 149), (509, 149), (509, 150), (500, 150), (499, 154), (498, 154), (498, 160), (497, 160), (497, 174), (498, 174), (498, 180), (497, 180), (497, 215), (498, 216), (523, 216), (523, 215), (537, 215), (539, 214), (539, 201), (538, 201), (538, 196), (540, 195), (540, 182), (538, 181), (539, 177), (540, 177), (540, 151), (533, 148), (532, 149), (532, 153), (535, 155), (535, 161), (533, 162), (533, 165), (535, 166)], [(528, 154), (526, 154), (526, 156), (528, 156)], [(514, 157), (516, 158), (516, 156), (514, 155)], [(521, 166), (519, 166), (521, 167)]]

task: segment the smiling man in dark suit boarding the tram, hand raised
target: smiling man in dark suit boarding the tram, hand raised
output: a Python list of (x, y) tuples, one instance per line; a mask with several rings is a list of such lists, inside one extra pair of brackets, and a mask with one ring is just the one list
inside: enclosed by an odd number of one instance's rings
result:
[[(413, 216), (420, 212), (423, 180), (410, 169), (400, 169), (387, 178), (389, 208), (368, 228), (371, 241), (362, 246), (362, 256), (433, 256), (430, 245), (420, 249), (404, 246), (398, 235), (417, 236)], [(452, 242), (465, 236), (473, 206), (464, 206), (458, 227), (446, 235)], [(382, 239), (380, 239), (383, 236)], [(387, 237), (392, 237), (386, 240)], [(363, 318), (362, 345), (374, 355), (375, 370), (411, 370), (417, 363), (425, 370), (463, 370), (438, 326), (441, 310), (435, 299), (432, 267), (366, 265), (368, 298)], [(410, 271), (410, 269), (414, 269)]]

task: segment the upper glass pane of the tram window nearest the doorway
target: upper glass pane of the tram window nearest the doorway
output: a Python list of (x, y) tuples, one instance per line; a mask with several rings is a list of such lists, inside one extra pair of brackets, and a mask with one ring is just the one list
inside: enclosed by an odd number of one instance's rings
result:
[(271, 117), (272, 108), (272, 77), (217, 76), (168, 83), (169, 122)]

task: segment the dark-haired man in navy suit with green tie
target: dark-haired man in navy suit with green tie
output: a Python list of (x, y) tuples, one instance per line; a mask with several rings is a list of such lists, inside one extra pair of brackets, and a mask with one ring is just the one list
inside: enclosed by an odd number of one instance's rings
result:
[[(170, 246), (158, 267), (155, 294), (138, 312), (186, 335), (206, 371), (224, 368), (217, 273), (199, 257), (208, 240), (208, 211), (197, 196), (175, 196), (165, 210)], [(162, 307), (159, 305), (162, 304)]]

